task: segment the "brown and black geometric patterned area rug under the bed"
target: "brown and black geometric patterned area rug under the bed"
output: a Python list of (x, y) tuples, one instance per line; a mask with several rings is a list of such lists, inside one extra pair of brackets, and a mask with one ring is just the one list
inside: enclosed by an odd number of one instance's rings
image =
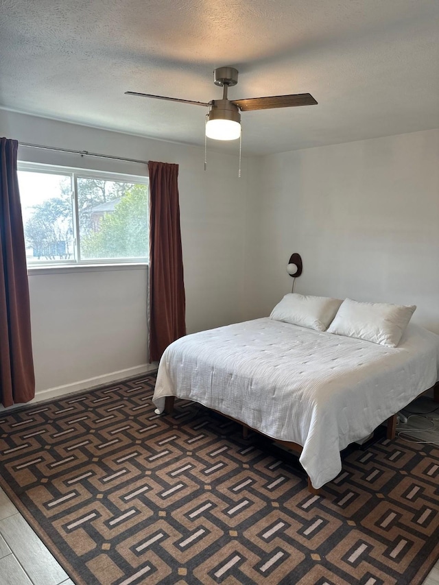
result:
[[(294, 457), (154, 374), (2, 414), (1, 486), (78, 585), (416, 585), (439, 556), (439, 449), (385, 439), (322, 497)], [(281, 455), (279, 455), (281, 453)]]

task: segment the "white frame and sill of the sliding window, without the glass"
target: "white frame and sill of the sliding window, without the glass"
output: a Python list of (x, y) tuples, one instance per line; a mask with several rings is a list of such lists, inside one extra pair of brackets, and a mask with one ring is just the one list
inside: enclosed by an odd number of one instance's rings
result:
[[(133, 175), (125, 173), (113, 173), (110, 171), (98, 171), (95, 169), (81, 169), (80, 167), (61, 167), (59, 165), (48, 165), (45, 163), (28, 163), (19, 160), (17, 163), (17, 171), (34, 172), (52, 175), (66, 175), (70, 176), (71, 180), (71, 206), (72, 206), (72, 222), (73, 222), (73, 249), (75, 252), (75, 259), (66, 260), (39, 260), (29, 262), (26, 259), (28, 272), (34, 272), (41, 269), (47, 272), (70, 272), (71, 269), (78, 267), (90, 267), (93, 269), (98, 267), (108, 269), (111, 266), (126, 265), (127, 267), (134, 267), (137, 265), (147, 266), (149, 258), (98, 258), (98, 259), (81, 259), (81, 241), (80, 241), (80, 225), (79, 225), (79, 207), (78, 207), (78, 178), (81, 179), (99, 179), (115, 182), (128, 182), (134, 184), (143, 184), (147, 187), (147, 198), (149, 200), (149, 186), (150, 178), (145, 175)], [(149, 229), (149, 217), (147, 217), (147, 229)], [(24, 228), (24, 226), (23, 226)], [(53, 270), (50, 270), (53, 269)]]

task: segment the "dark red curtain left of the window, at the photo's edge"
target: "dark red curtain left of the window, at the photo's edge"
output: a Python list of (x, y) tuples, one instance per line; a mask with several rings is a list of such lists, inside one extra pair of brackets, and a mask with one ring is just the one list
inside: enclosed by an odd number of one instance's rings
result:
[(5, 407), (35, 396), (18, 147), (17, 141), (0, 138), (0, 401)]

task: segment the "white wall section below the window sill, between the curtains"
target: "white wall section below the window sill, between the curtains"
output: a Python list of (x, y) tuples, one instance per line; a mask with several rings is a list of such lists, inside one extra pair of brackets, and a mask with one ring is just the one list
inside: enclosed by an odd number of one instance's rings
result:
[(29, 276), (40, 398), (147, 368), (147, 268)]

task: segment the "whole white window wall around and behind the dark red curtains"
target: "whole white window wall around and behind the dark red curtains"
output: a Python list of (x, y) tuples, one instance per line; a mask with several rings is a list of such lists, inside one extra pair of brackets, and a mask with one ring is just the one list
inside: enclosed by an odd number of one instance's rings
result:
[[(202, 129), (201, 129), (202, 131)], [(188, 332), (241, 319), (244, 289), (246, 160), (0, 110), (0, 136), (19, 142), (178, 163)], [(146, 165), (73, 154), (19, 149), (20, 160), (147, 174)], [(106, 270), (29, 276), (38, 396), (80, 387), (147, 367), (144, 270)], [(49, 391), (49, 392), (47, 392)]]

